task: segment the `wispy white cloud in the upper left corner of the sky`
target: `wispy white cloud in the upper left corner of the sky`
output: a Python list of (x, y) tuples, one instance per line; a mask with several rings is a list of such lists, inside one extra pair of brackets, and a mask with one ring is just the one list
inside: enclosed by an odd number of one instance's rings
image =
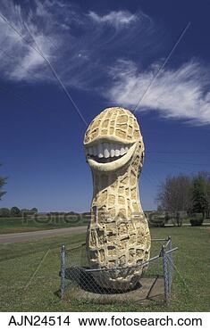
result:
[[(34, 40), (30, 37), (26, 25), (29, 27), (31, 35), (46, 57), (52, 56), (53, 45), (48, 39), (48, 35), (42, 29), (38, 29), (33, 22), (33, 14), (29, 12), (23, 14), (21, 6), (13, 2), (3, 1), (1, 12), (14, 29), (20, 32), (22, 38), (13, 30), (3, 18), (0, 18), (0, 70), (2, 76), (12, 80), (34, 80), (36, 78), (47, 77), (45, 60), (29, 45), (36, 47)], [(24, 42), (24, 40), (26, 42)], [(28, 45), (29, 43), (29, 45)], [(48, 77), (50, 78), (50, 76)]]

